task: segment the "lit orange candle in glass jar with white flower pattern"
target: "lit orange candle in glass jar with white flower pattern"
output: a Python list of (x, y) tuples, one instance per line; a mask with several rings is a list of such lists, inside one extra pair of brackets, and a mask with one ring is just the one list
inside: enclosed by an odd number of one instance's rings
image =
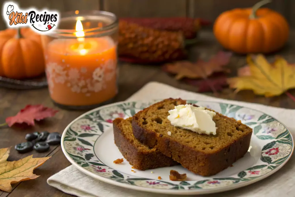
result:
[(63, 13), (42, 35), (50, 97), (60, 108), (89, 109), (117, 94), (118, 19), (105, 11)]

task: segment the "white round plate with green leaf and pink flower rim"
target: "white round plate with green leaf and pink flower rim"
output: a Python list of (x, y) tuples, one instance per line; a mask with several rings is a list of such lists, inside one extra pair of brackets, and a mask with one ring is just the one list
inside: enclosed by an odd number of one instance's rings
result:
[[(114, 144), (112, 120), (127, 118), (154, 102), (118, 102), (91, 110), (71, 122), (62, 135), (62, 149), (79, 170), (106, 183), (139, 191), (166, 194), (204, 194), (239, 188), (268, 177), (289, 160), (294, 142), (288, 128), (275, 118), (255, 109), (220, 102), (188, 100), (241, 120), (253, 128), (245, 156), (211, 177), (196, 175), (182, 166), (132, 172)], [(170, 181), (170, 170), (186, 173), (186, 181)], [(158, 180), (158, 176), (162, 179)]]

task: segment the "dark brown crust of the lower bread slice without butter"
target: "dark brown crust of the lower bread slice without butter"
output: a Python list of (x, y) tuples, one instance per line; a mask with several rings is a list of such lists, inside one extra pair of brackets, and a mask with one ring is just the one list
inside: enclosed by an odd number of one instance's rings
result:
[(116, 118), (113, 121), (114, 141), (123, 157), (129, 162), (130, 165), (133, 166), (133, 168), (137, 170), (148, 170), (158, 167), (179, 165), (179, 163), (170, 157), (166, 157), (157, 149), (144, 151), (134, 146), (124, 137), (124, 130), (119, 126), (121, 121), (125, 120), (122, 118)]

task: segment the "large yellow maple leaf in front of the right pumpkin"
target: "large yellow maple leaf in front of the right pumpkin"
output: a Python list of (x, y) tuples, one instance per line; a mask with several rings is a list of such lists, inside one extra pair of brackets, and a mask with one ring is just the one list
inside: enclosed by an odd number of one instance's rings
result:
[(295, 66), (284, 58), (277, 57), (270, 64), (263, 55), (256, 58), (248, 55), (247, 63), (250, 75), (227, 79), (230, 88), (235, 88), (236, 92), (248, 89), (257, 95), (273, 97), (295, 88)]

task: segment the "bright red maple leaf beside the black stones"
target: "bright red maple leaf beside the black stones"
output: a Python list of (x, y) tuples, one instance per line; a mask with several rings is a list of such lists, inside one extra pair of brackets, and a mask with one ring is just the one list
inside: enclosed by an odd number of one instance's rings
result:
[(27, 125), (35, 126), (35, 120), (40, 121), (44, 118), (53, 117), (58, 110), (44, 107), (43, 105), (27, 105), (21, 109), (15, 116), (6, 118), (6, 123), (10, 127), (15, 123), (26, 123)]

